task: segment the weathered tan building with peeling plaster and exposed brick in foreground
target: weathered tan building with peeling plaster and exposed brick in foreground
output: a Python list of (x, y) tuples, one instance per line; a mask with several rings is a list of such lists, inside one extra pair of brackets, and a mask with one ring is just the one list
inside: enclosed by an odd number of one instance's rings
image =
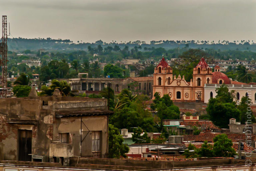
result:
[(4, 160), (19, 161), (33, 156), (102, 157), (108, 154), (111, 113), (107, 99), (61, 97), (58, 91), (53, 96), (0, 99), (1, 153)]

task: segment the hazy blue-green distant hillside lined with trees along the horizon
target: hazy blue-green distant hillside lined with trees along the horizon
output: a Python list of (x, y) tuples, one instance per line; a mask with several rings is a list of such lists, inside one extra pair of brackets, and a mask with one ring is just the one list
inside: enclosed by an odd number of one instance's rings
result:
[[(0, 39), (0, 41), (2, 41)], [(125, 42), (125, 43), (106, 43), (101, 40), (96, 41), (95, 43), (74, 43), (73, 41), (67, 39), (41, 39), (41, 38), (35, 38), (35, 39), (25, 39), (25, 38), (9, 38), (8, 39), (8, 49), (10, 51), (16, 51), (16, 52), (22, 52), (26, 49), (30, 50), (38, 50), (41, 48), (45, 48), (48, 51), (60, 51), (60, 50), (87, 50), (88, 46), (96, 47), (98, 45), (101, 45), (103, 48), (107, 46), (119, 46), (121, 49), (125, 46), (128, 46), (129, 48), (134, 48), (135, 46), (141, 45), (141, 50), (146, 51), (147, 48), (158, 48), (163, 47), (165, 49), (174, 49), (174, 48), (194, 48), (194, 49), (214, 49), (214, 50), (249, 50), (256, 52), (256, 44), (253, 42), (247, 42), (244, 40), (241, 40), (241, 42), (234, 41), (222, 41), (222, 42), (209, 42), (209, 41), (174, 41), (174, 40), (160, 40), (160, 41), (151, 41), (150, 44), (147, 44), (143, 41), (135, 41), (135, 42)], [(145, 49), (144, 49), (145, 48)]]

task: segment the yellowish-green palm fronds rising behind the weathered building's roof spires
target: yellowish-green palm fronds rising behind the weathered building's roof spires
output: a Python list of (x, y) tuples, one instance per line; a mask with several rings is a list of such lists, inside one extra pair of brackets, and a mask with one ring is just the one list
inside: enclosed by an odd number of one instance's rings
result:
[(42, 86), (40, 96), (51, 96), (55, 89), (60, 90), (61, 96), (71, 95), (71, 88), (67, 81), (62, 80), (61, 82), (59, 82), (58, 80), (52, 80), (51, 85), (49, 87)]

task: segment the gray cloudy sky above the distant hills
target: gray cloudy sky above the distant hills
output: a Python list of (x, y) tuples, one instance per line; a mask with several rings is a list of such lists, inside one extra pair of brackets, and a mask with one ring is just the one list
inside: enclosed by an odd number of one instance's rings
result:
[(256, 0), (0, 0), (0, 15), (13, 37), (256, 40)]

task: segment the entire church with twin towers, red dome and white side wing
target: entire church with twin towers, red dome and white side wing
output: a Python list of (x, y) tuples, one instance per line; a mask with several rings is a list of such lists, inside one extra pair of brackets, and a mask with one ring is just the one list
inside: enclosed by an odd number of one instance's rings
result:
[[(193, 79), (187, 82), (184, 76), (173, 75), (172, 68), (167, 64), (164, 58), (154, 68), (153, 74), (153, 95), (158, 94), (163, 97), (168, 94), (171, 100), (175, 102), (204, 102), (208, 103), (211, 97), (215, 97), (216, 88), (226, 84), (228, 88), (236, 89), (236, 98), (241, 100), (239, 95), (249, 96), (252, 104), (256, 104), (256, 85), (232, 81), (224, 73), (220, 72), (220, 67), (215, 66), (214, 72), (207, 65), (204, 58), (201, 58), (198, 65), (193, 69)], [(248, 93), (247, 93), (248, 92)], [(154, 97), (153, 97), (154, 98)]]

